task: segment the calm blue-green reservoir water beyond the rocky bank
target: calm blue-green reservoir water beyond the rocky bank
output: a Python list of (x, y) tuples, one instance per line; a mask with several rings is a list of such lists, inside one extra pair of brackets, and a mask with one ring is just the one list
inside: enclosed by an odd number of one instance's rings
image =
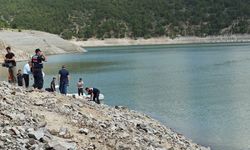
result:
[(215, 150), (250, 149), (250, 44), (87, 50), (50, 56), (45, 86), (65, 64), (70, 93), (76, 93), (81, 77), (104, 93), (104, 103), (146, 113), (196, 143)]

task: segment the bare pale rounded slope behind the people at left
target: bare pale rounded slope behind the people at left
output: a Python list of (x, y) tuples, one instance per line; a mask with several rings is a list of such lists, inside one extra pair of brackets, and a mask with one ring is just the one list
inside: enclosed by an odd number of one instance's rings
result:
[(34, 54), (36, 48), (40, 48), (47, 55), (84, 51), (83, 48), (60, 38), (58, 35), (31, 30), (0, 31), (0, 62), (3, 61), (7, 46), (12, 48), (17, 60), (28, 59)]

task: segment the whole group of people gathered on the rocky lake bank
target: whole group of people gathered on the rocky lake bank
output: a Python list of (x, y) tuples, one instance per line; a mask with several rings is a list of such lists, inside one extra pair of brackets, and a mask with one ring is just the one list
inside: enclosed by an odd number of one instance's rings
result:
[[(44, 73), (43, 73), (43, 62), (47, 61), (47, 57), (43, 54), (40, 49), (35, 50), (35, 55), (32, 56), (31, 60), (24, 65), (23, 71), (21, 69), (16, 72), (16, 60), (15, 54), (11, 51), (10, 47), (6, 47), (7, 54), (5, 55), (3, 66), (8, 68), (9, 76), (8, 81), (18, 86), (29, 87), (30, 75), (33, 75), (34, 84), (33, 88), (36, 90), (42, 90), (44, 85)], [(59, 91), (61, 94), (67, 95), (67, 87), (69, 86), (69, 71), (66, 66), (63, 65), (61, 70), (58, 72), (59, 79)], [(83, 96), (84, 82), (82, 78), (77, 82), (78, 95)], [(56, 92), (56, 77), (53, 77), (50, 88), (45, 88), (48, 92)], [(97, 88), (86, 87), (85, 91), (90, 94), (90, 100), (100, 104), (99, 94), (100, 90)]]

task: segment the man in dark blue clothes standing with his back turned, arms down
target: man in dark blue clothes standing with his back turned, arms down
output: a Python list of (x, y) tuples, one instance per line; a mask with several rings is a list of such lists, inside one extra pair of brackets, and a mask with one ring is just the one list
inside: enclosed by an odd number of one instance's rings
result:
[(59, 91), (61, 94), (67, 95), (67, 86), (69, 85), (69, 71), (66, 70), (65, 65), (58, 72), (59, 78)]

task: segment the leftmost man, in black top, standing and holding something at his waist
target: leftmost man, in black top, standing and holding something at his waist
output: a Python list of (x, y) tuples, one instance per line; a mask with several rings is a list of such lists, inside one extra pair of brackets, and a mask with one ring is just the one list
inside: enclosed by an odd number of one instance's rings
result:
[(8, 46), (6, 47), (7, 54), (5, 55), (4, 62), (7, 64), (8, 71), (9, 71), (9, 82), (16, 83), (16, 60), (15, 54), (11, 52), (11, 48)]

